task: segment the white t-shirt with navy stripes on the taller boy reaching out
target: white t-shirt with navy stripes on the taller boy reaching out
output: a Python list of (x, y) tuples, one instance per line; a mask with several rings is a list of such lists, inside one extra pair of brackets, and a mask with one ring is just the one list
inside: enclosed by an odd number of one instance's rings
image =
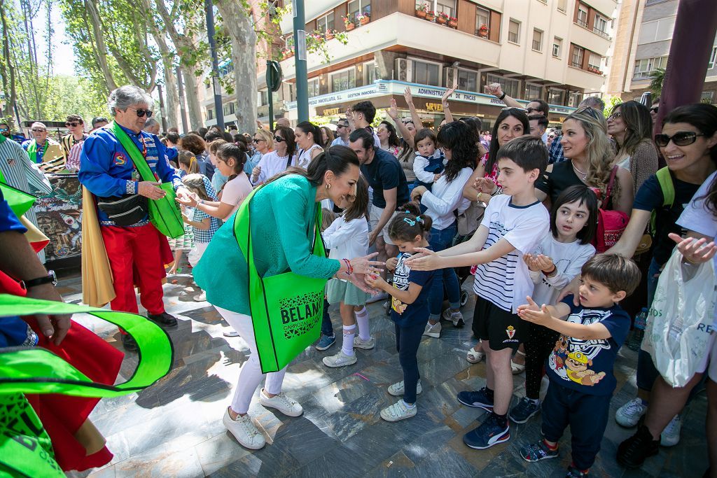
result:
[(488, 228), (483, 250), (505, 238), (516, 249), (475, 270), (473, 291), (493, 302), (496, 307), (518, 312), (518, 305), (526, 303), (526, 295), (533, 293), (533, 281), (523, 254), (535, 252), (550, 230), (550, 214), (539, 201), (529, 206), (513, 206), (512, 196), (499, 195), (490, 199), (481, 226)]

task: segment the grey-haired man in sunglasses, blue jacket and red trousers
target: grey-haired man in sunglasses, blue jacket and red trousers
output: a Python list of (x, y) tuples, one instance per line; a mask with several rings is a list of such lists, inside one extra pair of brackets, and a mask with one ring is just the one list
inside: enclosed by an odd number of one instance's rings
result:
[[(171, 183), (177, 199), (184, 201), (189, 198), (189, 191), (166, 161), (164, 145), (156, 135), (143, 131), (144, 123), (152, 115), (149, 105), (153, 104), (151, 95), (136, 86), (119, 87), (108, 98), (114, 123), (131, 142), (128, 147), (134, 148), (133, 156), (135, 153), (144, 156), (153, 175), (162, 183)], [(134, 169), (130, 153), (120, 143), (114, 128), (108, 127), (96, 130), (85, 140), (77, 178), (96, 199), (105, 199), (105, 204), (111, 206), (95, 201), (115, 292), (110, 307), (138, 313), (136, 278), (147, 318), (163, 327), (174, 327), (177, 320), (166, 312), (162, 291), (162, 280), (166, 276), (164, 264), (172, 262), (172, 254), (166, 236), (149, 221), (145, 209), (147, 199), (161, 199), (166, 193), (158, 182), (134, 176)], [(83, 268), (83, 274), (85, 269), (91, 268)], [(88, 277), (82, 280), (85, 279), (90, 280)], [(122, 343), (125, 350), (137, 350), (135, 340), (124, 332)]]

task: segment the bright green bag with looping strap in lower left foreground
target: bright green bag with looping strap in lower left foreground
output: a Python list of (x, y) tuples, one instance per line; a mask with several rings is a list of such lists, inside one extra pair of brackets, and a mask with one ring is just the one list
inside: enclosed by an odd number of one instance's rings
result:
[(15, 315), (85, 312), (126, 330), (137, 341), (139, 363), (124, 383), (108, 386), (87, 378), (62, 358), (39, 347), (0, 348), (0, 477), (65, 477), (52, 443), (23, 393), (111, 397), (141, 391), (171, 370), (168, 336), (140, 315), (0, 294), (0, 320)]

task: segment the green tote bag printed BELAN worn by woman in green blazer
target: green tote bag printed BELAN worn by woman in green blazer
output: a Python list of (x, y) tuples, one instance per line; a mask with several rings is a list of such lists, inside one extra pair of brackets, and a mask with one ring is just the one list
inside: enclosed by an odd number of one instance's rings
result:
[[(260, 188), (259, 188), (260, 189)], [(247, 196), (234, 219), (237, 242), (246, 240), (249, 305), (262, 373), (276, 372), (318, 340), (323, 317), (327, 279), (314, 279), (287, 271), (260, 277), (254, 262), (249, 204), (256, 189)], [(316, 205), (313, 254), (326, 257), (319, 231), (321, 208)], [(307, 231), (307, 236), (308, 236)]]

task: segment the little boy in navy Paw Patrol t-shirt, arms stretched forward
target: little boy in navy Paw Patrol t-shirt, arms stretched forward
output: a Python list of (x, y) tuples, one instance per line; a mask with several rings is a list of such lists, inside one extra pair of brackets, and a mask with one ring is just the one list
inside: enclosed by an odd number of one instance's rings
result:
[[(572, 463), (567, 477), (587, 477), (607, 426), (610, 398), (617, 381), (617, 352), (630, 332), (630, 316), (619, 302), (640, 284), (640, 269), (631, 259), (599, 254), (581, 269), (580, 305), (572, 296), (557, 305), (528, 303), (518, 316), (560, 333), (548, 358), (550, 378), (543, 400), (543, 439), (524, 446), (528, 462), (558, 457), (558, 441), (571, 426)], [(568, 389), (567, 391), (565, 389)]]

